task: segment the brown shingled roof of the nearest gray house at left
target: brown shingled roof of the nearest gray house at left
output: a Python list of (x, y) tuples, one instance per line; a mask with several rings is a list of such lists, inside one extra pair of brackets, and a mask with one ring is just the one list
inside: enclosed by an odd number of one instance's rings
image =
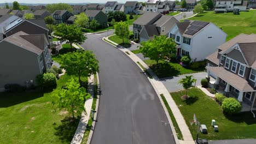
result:
[[(4, 41), (7, 41), (11, 44), (15, 44), (17, 46), (22, 47), (23, 49), (26, 49), (28, 51), (36, 53), (37, 55), (40, 55), (40, 53), (42, 53), (43, 50), (37, 47), (36, 45), (32, 44), (30, 41), (22, 38), (22, 36), (25, 36), (25, 35), (29, 35), (29, 34), (20, 31), (18, 33), (10, 35), (10, 37), (5, 38)], [(37, 39), (36, 43), (42, 43), (42, 42), (39, 39)]]

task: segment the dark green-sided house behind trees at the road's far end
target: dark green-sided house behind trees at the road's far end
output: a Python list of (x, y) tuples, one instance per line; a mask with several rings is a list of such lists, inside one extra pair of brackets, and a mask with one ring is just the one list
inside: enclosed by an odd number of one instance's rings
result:
[(101, 10), (86, 10), (84, 13), (88, 16), (90, 21), (96, 20), (98, 23), (100, 23), (101, 27), (108, 26), (108, 16)]

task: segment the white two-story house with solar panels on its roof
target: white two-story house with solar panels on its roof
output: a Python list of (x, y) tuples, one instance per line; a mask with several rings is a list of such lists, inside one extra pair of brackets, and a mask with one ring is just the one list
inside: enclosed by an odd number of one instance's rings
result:
[(189, 55), (192, 61), (202, 61), (225, 43), (226, 33), (211, 22), (177, 22), (169, 37), (177, 43), (177, 56)]

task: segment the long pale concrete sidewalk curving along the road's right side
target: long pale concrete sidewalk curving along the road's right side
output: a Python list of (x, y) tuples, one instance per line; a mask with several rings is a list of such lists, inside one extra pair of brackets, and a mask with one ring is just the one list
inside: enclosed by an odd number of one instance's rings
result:
[[(103, 38), (103, 39), (106, 39), (107, 41), (110, 41), (112, 43), (112, 45), (115, 45), (115, 46), (118, 46), (117, 43), (114, 43), (113, 41), (109, 40), (108, 37), (106, 38)], [(194, 140), (193, 140), (193, 137), (192, 135), (190, 134), (190, 131), (189, 131), (189, 128), (188, 128), (188, 125), (185, 123), (185, 120), (181, 114), (181, 111), (179, 111), (176, 103), (174, 102), (174, 100), (172, 99), (170, 93), (168, 92), (168, 90), (166, 89), (166, 87), (164, 86), (164, 84), (159, 80), (158, 76), (156, 76), (152, 70), (150, 70), (150, 68), (148, 67), (148, 65), (146, 63), (144, 63), (139, 57), (137, 57), (134, 53), (132, 53), (130, 50), (128, 49), (125, 49), (124, 47), (121, 47), (119, 46), (119, 50), (123, 51), (124, 53), (126, 53), (127, 56), (129, 56), (133, 62), (135, 62), (137, 64), (137, 62), (141, 63), (141, 65), (146, 68), (146, 69), (149, 69), (149, 73), (150, 75), (152, 75), (153, 79), (149, 79), (150, 83), (152, 83), (152, 86), (154, 87), (156, 93), (158, 95), (160, 94), (163, 94), (168, 105), (170, 106), (171, 110), (172, 110), (172, 113), (174, 115), (174, 118), (176, 119), (177, 123), (178, 123), (178, 126), (179, 126), (179, 129), (181, 130), (182, 132), (182, 135), (183, 135), (183, 139), (184, 141), (182, 140), (179, 140), (179, 143), (186, 143), (186, 144), (190, 144), (190, 143), (195, 143)], [(129, 53), (129, 54), (127, 54)], [(138, 65), (138, 64), (137, 64)], [(138, 65), (139, 66), (139, 65)], [(139, 66), (140, 67), (140, 66)], [(141, 67), (140, 67), (141, 68)], [(142, 69), (142, 68), (141, 68)], [(159, 98), (161, 99), (161, 97)], [(161, 101), (161, 100), (160, 100)], [(165, 107), (164, 104), (162, 104), (163, 107)], [(168, 115), (166, 113), (166, 115)], [(168, 117), (168, 116), (167, 116)], [(170, 121), (170, 120), (169, 120)], [(172, 122), (170, 122), (172, 123)], [(172, 126), (172, 124), (171, 124)], [(172, 128), (173, 130), (173, 134), (175, 133), (175, 130), (174, 128)], [(176, 136), (177, 138), (177, 136)], [(177, 143), (177, 141), (176, 141)]]

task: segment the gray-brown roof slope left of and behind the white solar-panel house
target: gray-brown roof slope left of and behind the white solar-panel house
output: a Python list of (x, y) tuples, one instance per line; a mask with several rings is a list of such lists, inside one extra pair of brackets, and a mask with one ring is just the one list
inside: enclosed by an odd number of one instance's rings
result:
[(149, 23), (151, 22), (153, 19), (155, 19), (155, 17), (161, 17), (160, 13), (153, 13), (153, 12), (147, 12), (144, 13), (141, 17), (139, 17), (136, 21), (134, 21), (133, 23), (138, 24), (138, 25), (151, 25), (153, 23)]

